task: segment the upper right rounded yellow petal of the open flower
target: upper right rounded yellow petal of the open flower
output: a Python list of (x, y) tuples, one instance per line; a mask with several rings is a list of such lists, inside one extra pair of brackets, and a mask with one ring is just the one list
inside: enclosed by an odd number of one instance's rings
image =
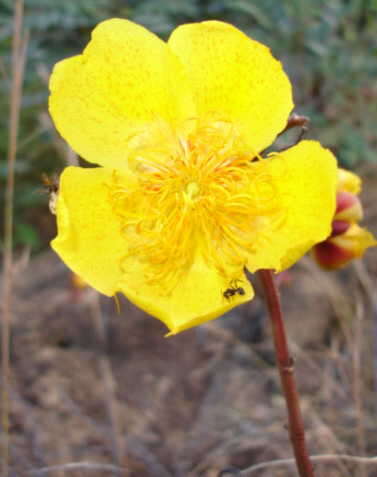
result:
[(182, 25), (168, 44), (186, 67), (199, 117), (238, 125), (253, 152), (273, 142), (293, 102), (288, 77), (266, 46), (219, 21)]

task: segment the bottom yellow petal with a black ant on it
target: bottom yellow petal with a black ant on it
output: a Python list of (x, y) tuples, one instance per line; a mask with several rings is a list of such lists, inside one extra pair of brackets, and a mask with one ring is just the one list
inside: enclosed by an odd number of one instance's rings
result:
[[(145, 280), (145, 266), (130, 257), (124, 264), (120, 290), (138, 307), (155, 316), (169, 328), (169, 335), (217, 318), (254, 296), (251, 285), (241, 272), (238, 280), (224, 278), (198, 256), (178, 285), (164, 291), (158, 284)], [(228, 299), (229, 288), (242, 289)]]

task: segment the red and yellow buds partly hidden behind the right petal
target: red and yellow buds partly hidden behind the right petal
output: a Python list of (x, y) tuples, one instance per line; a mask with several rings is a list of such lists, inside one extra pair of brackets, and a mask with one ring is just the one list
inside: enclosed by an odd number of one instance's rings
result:
[(367, 229), (358, 225), (363, 218), (363, 208), (357, 195), (361, 179), (356, 174), (338, 170), (336, 210), (330, 236), (313, 247), (316, 262), (325, 269), (335, 270), (360, 258), (377, 241)]

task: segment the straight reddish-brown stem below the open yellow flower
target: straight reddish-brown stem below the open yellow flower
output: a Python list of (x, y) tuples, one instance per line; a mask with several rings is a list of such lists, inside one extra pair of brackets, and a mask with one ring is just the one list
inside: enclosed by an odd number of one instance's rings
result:
[(310, 462), (306, 448), (304, 423), (301, 416), (299, 395), (293, 371), (294, 363), (288, 350), (279, 292), (274, 281), (273, 273), (270, 270), (261, 270), (258, 273), (265, 290), (267, 306), (271, 319), (276, 359), (279, 367), (285, 402), (288, 409), (289, 435), (292, 442), (298, 473), (300, 477), (314, 477), (313, 466)]

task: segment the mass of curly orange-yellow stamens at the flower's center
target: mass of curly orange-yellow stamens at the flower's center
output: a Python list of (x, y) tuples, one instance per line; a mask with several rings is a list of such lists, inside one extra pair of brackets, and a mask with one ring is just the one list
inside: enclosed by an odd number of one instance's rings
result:
[(271, 181), (230, 123), (195, 123), (178, 138), (162, 132), (165, 142), (153, 135), (158, 147), (144, 143), (130, 158), (131, 179), (115, 173), (110, 187), (128, 247), (123, 266), (136, 257), (167, 293), (198, 253), (237, 276), (261, 217), (276, 209)]

